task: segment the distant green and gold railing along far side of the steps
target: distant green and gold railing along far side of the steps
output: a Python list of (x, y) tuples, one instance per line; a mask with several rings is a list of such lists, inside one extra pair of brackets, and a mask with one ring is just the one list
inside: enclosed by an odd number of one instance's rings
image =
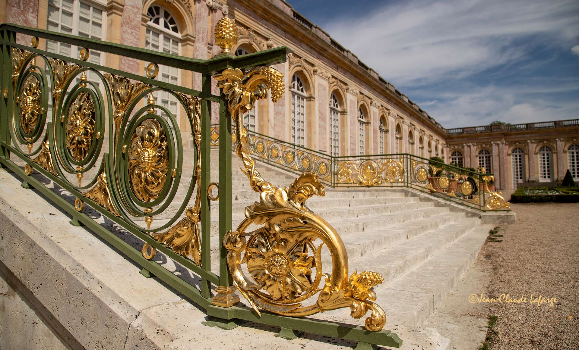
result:
[[(494, 189), (493, 174), (484, 170), (470, 171), (408, 153), (334, 157), (255, 131), (248, 135), (256, 159), (295, 174), (313, 171), (327, 186), (410, 187), (478, 211), (510, 210)], [(211, 146), (218, 145), (219, 126), (213, 124)]]

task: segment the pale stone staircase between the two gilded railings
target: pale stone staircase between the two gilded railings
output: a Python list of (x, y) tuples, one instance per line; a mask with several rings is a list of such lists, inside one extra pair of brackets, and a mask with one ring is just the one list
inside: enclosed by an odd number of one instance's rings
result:
[[(233, 229), (244, 218), (247, 205), (259, 200), (241, 173), (241, 162), (232, 161)], [(289, 186), (296, 175), (257, 163), (262, 177), (274, 186)], [(212, 165), (212, 179), (218, 169)], [(421, 201), (406, 189), (326, 187), (325, 197), (306, 204), (327, 220), (342, 237), (349, 256), (350, 274), (369, 270), (382, 274), (375, 290), (387, 315), (387, 329), (420, 327), (450, 292), (477, 257), (492, 229), (467, 211), (450, 211), (442, 201)], [(218, 204), (212, 204), (211, 232), (218, 233)], [(256, 227), (255, 227), (256, 228)], [(252, 229), (252, 227), (250, 227)], [(248, 229), (248, 230), (250, 230)], [(213, 240), (212, 270), (218, 270), (220, 242)], [(330, 266), (329, 250), (322, 251), (322, 266)], [(331, 272), (325, 271), (324, 272)], [(306, 302), (307, 303), (307, 302)], [(314, 318), (357, 322), (349, 309), (314, 315)]]

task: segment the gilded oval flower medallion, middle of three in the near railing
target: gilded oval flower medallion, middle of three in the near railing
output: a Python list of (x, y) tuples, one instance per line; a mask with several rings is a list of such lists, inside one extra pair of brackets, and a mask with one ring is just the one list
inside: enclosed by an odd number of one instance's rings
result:
[(76, 95), (75, 101), (68, 109), (65, 128), (66, 146), (76, 161), (82, 161), (89, 153), (94, 135), (94, 117), (94, 102), (89, 93)]

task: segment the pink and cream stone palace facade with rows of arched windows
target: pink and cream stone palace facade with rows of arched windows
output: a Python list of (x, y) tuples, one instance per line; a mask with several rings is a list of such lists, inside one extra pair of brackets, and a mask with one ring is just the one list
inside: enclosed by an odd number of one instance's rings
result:
[[(446, 129), (283, 0), (0, 0), (0, 22), (203, 59), (219, 53), (212, 29), (223, 16), (239, 28), (237, 55), (294, 51), (273, 66), (284, 74), (284, 97), (258, 101), (245, 115), (249, 130), (332, 156), (412, 153), (482, 166), (505, 194), (521, 183), (556, 183), (567, 169), (579, 180), (579, 119)], [(79, 51), (43, 39), (39, 48), (71, 57)], [(140, 75), (147, 63), (98, 52), (90, 61)], [(200, 74), (177, 68), (161, 66), (157, 79), (201, 89)], [(167, 93), (155, 98), (181, 118), (190, 140), (177, 101)]]

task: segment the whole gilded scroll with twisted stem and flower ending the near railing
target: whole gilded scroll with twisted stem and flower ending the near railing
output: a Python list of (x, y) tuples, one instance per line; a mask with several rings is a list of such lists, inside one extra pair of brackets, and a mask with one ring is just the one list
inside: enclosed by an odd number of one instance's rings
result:
[[(234, 285), (259, 315), (259, 308), (286, 316), (307, 316), (350, 307), (354, 318), (372, 311), (365, 327), (381, 330), (386, 315), (373, 303), (373, 287), (383, 278), (368, 271), (356, 271), (348, 277), (348, 256), (338, 232), (306, 207), (308, 198), (325, 195), (318, 175), (305, 172), (289, 188), (274, 187), (261, 177), (250, 156), (243, 114), (256, 100), (267, 97), (267, 89), (277, 101), (284, 91), (283, 75), (270, 67), (256, 67), (245, 74), (240, 69), (226, 69), (215, 79), (228, 99), (229, 113), (236, 119), (236, 153), (243, 161), (242, 171), (252, 190), (259, 193), (259, 201), (245, 208), (245, 219), (236, 231), (223, 238)], [(259, 228), (247, 231), (251, 224)], [(322, 273), (324, 245), (332, 257), (331, 274)], [(322, 277), (325, 284), (320, 288)]]

